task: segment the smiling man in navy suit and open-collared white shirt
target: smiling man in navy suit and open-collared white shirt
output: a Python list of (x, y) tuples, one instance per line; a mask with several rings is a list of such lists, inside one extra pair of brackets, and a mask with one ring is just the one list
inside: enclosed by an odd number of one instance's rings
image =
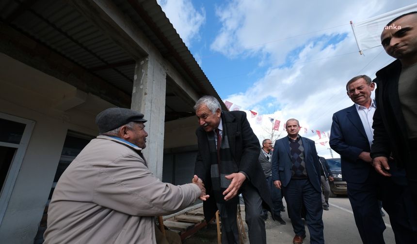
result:
[[(394, 218), (401, 214), (396, 202), (401, 185), (386, 182), (372, 168), (370, 147), (373, 130), (372, 117), (376, 104), (371, 99), (375, 84), (369, 76), (355, 76), (346, 84), (348, 96), (354, 105), (333, 115), (330, 147), (340, 154), (343, 179), (348, 184), (348, 198), (352, 205), (356, 227), (365, 244), (383, 244), (385, 224), (381, 217), (378, 199), (383, 201), (389, 214), (397, 243), (408, 241), (410, 231), (401, 227)], [(401, 173), (400, 171), (398, 172)]]

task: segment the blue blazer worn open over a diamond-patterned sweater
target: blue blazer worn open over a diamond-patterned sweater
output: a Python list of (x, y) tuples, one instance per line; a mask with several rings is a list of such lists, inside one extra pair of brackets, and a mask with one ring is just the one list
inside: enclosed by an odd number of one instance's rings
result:
[[(320, 162), (317, 157), (314, 141), (301, 137), (304, 146), (305, 168), (308, 179), (314, 189), (321, 192)], [(292, 176), (291, 152), (289, 149), (288, 137), (275, 141), (272, 156), (272, 179), (281, 181), (282, 186), (286, 187)]]

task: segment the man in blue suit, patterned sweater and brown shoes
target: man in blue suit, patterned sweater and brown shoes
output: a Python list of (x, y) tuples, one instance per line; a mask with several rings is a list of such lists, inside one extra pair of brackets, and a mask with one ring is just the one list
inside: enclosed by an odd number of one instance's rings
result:
[(298, 135), (300, 123), (290, 119), (286, 123), (288, 137), (275, 141), (272, 156), (272, 178), (277, 188), (282, 189), (288, 206), (295, 236), (293, 244), (302, 244), (305, 239), (301, 219), (303, 204), (307, 212), (306, 222), (311, 244), (324, 244), (321, 215), (320, 163), (314, 141)]

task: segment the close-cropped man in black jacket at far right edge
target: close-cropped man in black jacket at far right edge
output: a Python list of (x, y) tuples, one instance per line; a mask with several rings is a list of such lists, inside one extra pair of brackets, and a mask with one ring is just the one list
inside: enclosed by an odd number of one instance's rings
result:
[[(391, 20), (382, 31), (381, 44), (397, 60), (379, 70), (374, 80), (378, 107), (371, 157), (386, 178), (395, 177), (394, 167), (405, 168), (408, 187), (400, 207), (407, 213), (400, 220), (414, 233), (409, 243), (417, 243), (417, 12)], [(390, 156), (395, 164), (389, 164)]]

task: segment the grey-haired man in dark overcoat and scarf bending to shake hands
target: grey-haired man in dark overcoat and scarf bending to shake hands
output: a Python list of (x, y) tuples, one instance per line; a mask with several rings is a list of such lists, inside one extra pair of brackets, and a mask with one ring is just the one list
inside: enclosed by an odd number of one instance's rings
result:
[(222, 111), (212, 96), (194, 106), (200, 127), (196, 130), (198, 153), (195, 175), (205, 184), (210, 198), (203, 203), (206, 221), (219, 209), (222, 243), (238, 244), (237, 204), (242, 193), (251, 243), (266, 243), (262, 205), (272, 210), (265, 175), (257, 162), (259, 140), (242, 111)]

